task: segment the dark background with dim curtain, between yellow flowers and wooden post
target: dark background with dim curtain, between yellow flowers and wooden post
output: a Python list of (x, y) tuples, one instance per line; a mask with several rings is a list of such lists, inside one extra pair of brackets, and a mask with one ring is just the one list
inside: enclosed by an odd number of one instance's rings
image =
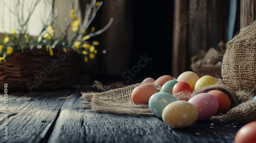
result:
[[(81, 11), (89, 2), (80, 1)], [(107, 31), (92, 38), (100, 42), (98, 53), (94, 60), (83, 63), (82, 74), (116, 76), (125, 81), (128, 76), (133, 80), (171, 75), (173, 10), (173, 1), (167, 0), (103, 1), (92, 25), (98, 30), (111, 17), (114, 21)], [(152, 60), (141, 67), (138, 62), (145, 55)]]

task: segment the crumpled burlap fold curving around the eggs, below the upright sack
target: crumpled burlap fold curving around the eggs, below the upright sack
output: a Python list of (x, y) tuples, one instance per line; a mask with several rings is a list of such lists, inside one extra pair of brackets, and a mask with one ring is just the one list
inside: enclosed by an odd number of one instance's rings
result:
[(231, 107), (225, 114), (217, 113), (211, 119), (231, 120), (249, 123), (256, 121), (256, 100), (252, 100), (253, 94), (245, 91), (234, 91), (223, 80), (218, 79), (218, 83), (195, 91), (191, 97), (199, 93), (207, 93), (211, 90), (224, 92), (231, 101)]

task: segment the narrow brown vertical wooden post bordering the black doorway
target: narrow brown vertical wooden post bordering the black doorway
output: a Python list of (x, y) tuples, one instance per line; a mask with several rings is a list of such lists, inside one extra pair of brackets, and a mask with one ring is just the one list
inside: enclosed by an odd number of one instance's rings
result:
[(173, 61), (172, 76), (177, 77), (186, 68), (187, 47), (187, 0), (174, 2)]

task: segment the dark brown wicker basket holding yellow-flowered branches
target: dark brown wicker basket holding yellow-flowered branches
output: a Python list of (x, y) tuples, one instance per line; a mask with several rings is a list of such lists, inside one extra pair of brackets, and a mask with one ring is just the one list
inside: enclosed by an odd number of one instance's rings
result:
[(42, 49), (14, 51), (7, 62), (0, 63), (0, 89), (8, 83), (9, 91), (35, 91), (68, 87), (77, 78), (79, 58), (76, 52), (55, 47), (54, 55)]

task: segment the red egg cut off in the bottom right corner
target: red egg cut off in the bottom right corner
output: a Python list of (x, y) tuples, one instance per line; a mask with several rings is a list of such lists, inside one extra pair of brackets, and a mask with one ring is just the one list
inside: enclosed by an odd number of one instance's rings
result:
[(244, 125), (238, 130), (234, 143), (253, 143), (256, 142), (256, 121)]

